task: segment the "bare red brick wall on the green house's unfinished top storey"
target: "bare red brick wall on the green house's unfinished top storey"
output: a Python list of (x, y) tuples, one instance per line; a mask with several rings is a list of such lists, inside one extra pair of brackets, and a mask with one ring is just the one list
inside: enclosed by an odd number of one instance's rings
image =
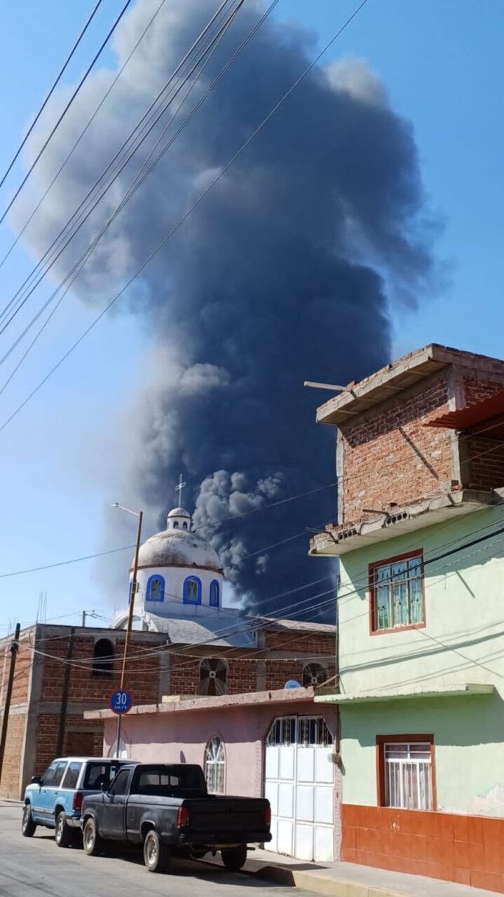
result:
[(364, 508), (382, 509), (414, 501), (453, 478), (450, 431), (423, 424), (448, 411), (447, 374), (388, 399), (341, 428), (343, 481), (341, 518), (351, 523)]

